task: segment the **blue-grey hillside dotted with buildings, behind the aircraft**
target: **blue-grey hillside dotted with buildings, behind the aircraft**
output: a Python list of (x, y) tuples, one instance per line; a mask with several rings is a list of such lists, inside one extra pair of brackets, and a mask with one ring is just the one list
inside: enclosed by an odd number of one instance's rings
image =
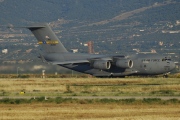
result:
[(179, 59), (179, 0), (0, 0), (0, 11), (0, 50), (9, 51), (1, 59), (37, 58), (28, 30), (6, 28), (34, 22), (50, 23), (69, 51), (87, 53), (84, 44), (93, 41), (100, 54), (155, 50)]

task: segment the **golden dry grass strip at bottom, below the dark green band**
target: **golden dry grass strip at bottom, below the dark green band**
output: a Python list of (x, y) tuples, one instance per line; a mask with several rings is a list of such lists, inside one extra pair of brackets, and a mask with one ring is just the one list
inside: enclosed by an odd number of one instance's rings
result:
[(1, 120), (179, 120), (180, 105), (0, 104)]

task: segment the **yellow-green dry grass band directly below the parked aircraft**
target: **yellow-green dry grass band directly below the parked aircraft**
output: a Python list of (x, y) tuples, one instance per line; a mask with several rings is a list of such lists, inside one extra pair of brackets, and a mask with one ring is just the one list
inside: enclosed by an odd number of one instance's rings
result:
[(0, 96), (180, 96), (180, 80), (179, 78), (0, 78)]

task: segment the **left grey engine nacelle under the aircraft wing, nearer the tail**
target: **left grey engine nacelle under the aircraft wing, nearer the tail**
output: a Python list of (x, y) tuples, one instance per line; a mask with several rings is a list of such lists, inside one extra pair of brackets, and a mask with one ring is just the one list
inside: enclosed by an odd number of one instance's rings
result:
[(108, 70), (111, 68), (111, 62), (106, 60), (96, 60), (91, 66), (100, 70)]

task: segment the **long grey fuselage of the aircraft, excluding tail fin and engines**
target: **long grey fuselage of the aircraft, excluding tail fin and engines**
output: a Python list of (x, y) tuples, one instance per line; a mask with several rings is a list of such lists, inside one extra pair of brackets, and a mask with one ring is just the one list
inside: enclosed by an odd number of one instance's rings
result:
[[(128, 58), (133, 61), (132, 68), (120, 68), (113, 64), (113, 57), (109, 55), (92, 55), (92, 54), (75, 54), (75, 53), (54, 53), (45, 55), (44, 58), (48, 62), (58, 61), (58, 65), (66, 67), (75, 71), (91, 74), (94, 76), (126, 76), (126, 75), (158, 75), (168, 73), (175, 68), (173, 61), (167, 57), (158, 54), (135, 54)], [(103, 58), (103, 60), (110, 61), (111, 68), (107, 70), (95, 69), (90, 63), (96, 58)], [(123, 56), (121, 56), (123, 57)], [(70, 64), (63, 64), (63, 61), (72, 60)], [(76, 63), (75, 61), (84, 60), (82, 63)], [(62, 62), (61, 62), (62, 61)]]

